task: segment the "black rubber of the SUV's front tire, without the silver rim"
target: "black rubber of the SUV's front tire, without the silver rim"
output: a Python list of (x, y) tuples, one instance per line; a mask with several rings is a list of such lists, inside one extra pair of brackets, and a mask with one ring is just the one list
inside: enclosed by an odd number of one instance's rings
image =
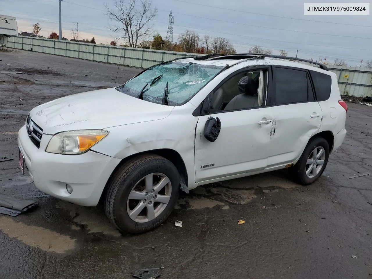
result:
[[(127, 201), (133, 187), (146, 175), (162, 173), (171, 183), (171, 195), (166, 208), (155, 219), (135, 222), (127, 212)], [(147, 232), (163, 223), (173, 211), (179, 196), (180, 175), (177, 168), (164, 157), (145, 154), (124, 163), (108, 182), (105, 198), (105, 212), (110, 221), (124, 233)]]

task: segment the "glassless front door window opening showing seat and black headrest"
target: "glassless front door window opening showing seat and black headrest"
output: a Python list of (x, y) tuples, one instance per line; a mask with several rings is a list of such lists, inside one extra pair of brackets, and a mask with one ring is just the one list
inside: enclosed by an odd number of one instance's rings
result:
[(267, 70), (245, 71), (230, 77), (209, 97), (211, 112), (250, 109), (265, 104)]

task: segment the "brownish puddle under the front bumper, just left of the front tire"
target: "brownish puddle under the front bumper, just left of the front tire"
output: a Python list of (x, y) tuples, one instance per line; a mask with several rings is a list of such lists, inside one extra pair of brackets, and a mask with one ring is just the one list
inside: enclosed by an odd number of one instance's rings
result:
[[(73, 221), (85, 225), (88, 233), (102, 232), (105, 235), (114, 237), (121, 236), (120, 232), (106, 218), (104, 212), (97, 212), (99, 209), (96, 207), (80, 206), (65, 201), (59, 201), (56, 206), (69, 211)], [(71, 225), (71, 228), (73, 230), (80, 229), (74, 224)]]

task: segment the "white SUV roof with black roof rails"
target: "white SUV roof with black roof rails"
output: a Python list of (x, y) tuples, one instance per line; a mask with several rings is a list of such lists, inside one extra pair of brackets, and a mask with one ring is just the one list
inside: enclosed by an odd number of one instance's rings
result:
[[(204, 57), (204, 58), (203, 58)], [(299, 60), (304, 63), (295, 62), (291, 60)], [(234, 54), (234, 55), (218, 55), (214, 54), (210, 57), (208, 55), (198, 56), (193, 58), (183, 58), (179, 59), (179, 62), (193, 62), (196, 64), (202, 65), (215, 65), (215, 66), (226, 66), (230, 65), (232, 67), (235, 64), (239, 64), (240, 67), (249, 67), (254, 65), (282, 65), (287, 67), (296, 67), (296, 68), (303, 68), (307, 70), (315, 70), (315, 71), (328, 71), (327, 67), (323, 64), (313, 62), (310, 60), (303, 60), (300, 58), (294, 57), (284, 57), (278, 55), (262, 55), (262, 54)], [(241, 65), (244, 63), (244, 65)], [(314, 67), (311, 64), (318, 65), (319, 67)]]

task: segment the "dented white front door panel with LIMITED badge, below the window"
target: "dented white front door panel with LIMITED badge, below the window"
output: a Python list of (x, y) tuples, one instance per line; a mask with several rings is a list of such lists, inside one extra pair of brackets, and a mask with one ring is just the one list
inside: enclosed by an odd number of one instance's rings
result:
[(200, 116), (195, 138), (195, 181), (264, 170), (267, 166), (267, 145), (271, 124), (259, 124), (272, 119), (271, 108), (222, 112), (211, 115), (221, 121), (221, 131), (214, 142), (204, 135), (209, 116)]

